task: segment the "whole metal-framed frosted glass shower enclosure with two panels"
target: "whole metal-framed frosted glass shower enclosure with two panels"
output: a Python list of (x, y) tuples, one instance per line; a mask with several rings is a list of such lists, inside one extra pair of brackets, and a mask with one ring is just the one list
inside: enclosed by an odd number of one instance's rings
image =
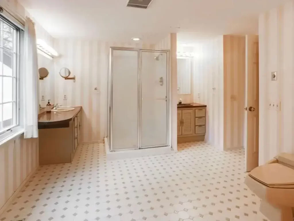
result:
[(170, 146), (169, 50), (111, 47), (110, 152)]

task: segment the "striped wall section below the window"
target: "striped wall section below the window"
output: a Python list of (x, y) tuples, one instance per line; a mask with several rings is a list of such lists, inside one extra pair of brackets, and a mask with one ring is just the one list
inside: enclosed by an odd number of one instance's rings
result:
[(38, 150), (38, 139), (24, 139), (23, 136), (0, 146), (0, 209), (38, 168)]

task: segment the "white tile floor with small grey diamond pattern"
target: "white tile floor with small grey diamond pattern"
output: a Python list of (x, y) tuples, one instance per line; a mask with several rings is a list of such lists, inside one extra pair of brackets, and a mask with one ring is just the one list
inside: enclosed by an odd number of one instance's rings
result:
[(106, 161), (104, 145), (89, 144), (73, 163), (41, 166), (0, 220), (266, 220), (245, 176), (242, 149), (194, 142), (175, 154)]

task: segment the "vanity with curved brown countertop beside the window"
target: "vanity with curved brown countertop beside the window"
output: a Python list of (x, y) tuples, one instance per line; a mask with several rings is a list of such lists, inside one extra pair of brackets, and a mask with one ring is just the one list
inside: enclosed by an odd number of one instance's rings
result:
[(81, 116), (81, 107), (68, 112), (44, 113), (45, 119), (38, 121), (40, 165), (72, 162), (81, 142)]

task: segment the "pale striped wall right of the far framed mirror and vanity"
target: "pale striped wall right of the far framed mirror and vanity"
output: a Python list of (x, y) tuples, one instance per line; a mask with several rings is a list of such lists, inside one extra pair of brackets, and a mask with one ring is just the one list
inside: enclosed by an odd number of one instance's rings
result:
[(194, 102), (207, 105), (206, 141), (223, 149), (223, 36), (199, 43), (194, 50)]

